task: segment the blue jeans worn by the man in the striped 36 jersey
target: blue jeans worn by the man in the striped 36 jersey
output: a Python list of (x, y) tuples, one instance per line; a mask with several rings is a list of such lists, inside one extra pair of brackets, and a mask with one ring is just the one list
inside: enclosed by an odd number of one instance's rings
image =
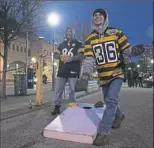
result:
[(121, 117), (123, 115), (118, 106), (118, 98), (122, 83), (122, 79), (115, 79), (102, 87), (106, 109), (99, 125), (99, 133), (105, 135), (110, 134), (115, 116)]

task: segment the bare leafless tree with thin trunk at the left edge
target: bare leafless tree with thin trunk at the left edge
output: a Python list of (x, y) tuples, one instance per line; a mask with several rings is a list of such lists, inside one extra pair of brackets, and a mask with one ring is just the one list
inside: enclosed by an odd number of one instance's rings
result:
[(44, 0), (0, 0), (0, 40), (4, 43), (2, 99), (6, 98), (6, 73), (10, 43), (29, 30), (36, 10)]

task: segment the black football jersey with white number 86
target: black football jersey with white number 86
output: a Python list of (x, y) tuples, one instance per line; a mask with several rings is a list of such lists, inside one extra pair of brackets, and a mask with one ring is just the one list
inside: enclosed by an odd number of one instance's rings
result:
[[(60, 55), (67, 55), (70, 57), (76, 56), (79, 53), (84, 53), (84, 48), (82, 42), (77, 39), (72, 40), (68, 43), (67, 40), (64, 40), (58, 47), (57, 52)], [(59, 60), (59, 68), (58, 68), (58, 77), (68, 77), (75, 78), (80, 74), (81, 69), (81, 61), (71, 61), (68, 63), (64, 63), (61, 59)]]

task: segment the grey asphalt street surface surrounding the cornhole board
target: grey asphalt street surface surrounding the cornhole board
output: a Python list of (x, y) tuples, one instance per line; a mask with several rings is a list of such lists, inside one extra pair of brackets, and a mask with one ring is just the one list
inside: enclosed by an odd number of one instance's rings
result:
[[(80, 98), (79, 102), (96, 103), (101, 92)], [(153, 147), (153, 89), (122, 88), (120, 106), (126, 118), (120, 129), (112, 130), (111, 142), (102, 148)], [(1, 148), (95, 148), (95, 146), (48, 139), (41, 136), (51, 122), (51, 108), (1, 121)]]

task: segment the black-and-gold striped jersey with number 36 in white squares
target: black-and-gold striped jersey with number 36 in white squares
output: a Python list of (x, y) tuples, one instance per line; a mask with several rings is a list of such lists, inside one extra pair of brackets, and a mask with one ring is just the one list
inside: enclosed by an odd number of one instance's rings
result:
[(115, 78), (124, 78), (120, 56), (128, 47), (126, 35), (117, 28), (108, 27), (104, 35), (93, 31), (87, 36), (84, 55), (94, 57), (101, 85)]

